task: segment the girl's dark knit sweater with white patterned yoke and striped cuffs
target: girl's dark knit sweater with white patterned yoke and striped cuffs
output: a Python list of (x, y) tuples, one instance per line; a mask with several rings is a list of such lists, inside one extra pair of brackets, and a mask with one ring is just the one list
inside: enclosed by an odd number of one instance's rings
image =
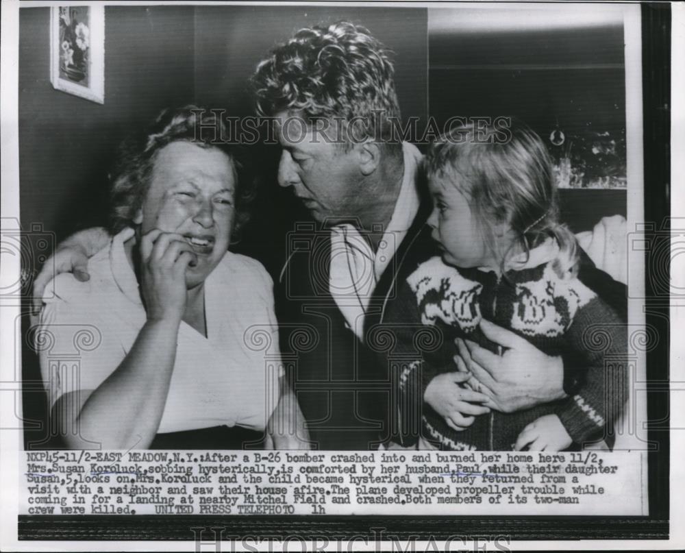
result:
[[(449, 267), (439, 257), (419, 265), (398, 291), (405, 297), (397, 304), (404, 307), (394, 318), (434, 325), (442, 339), (434, 351), (403, 365), (401, 418), (420, 417), (424, 439), (443, 450), (510, 450), (527, 424), (551, 413), (558, 415), (576, 447), (601, 438), (611, 446), (613, 422), (627, 399), (626, 327), (588, 286), (571, 274), (564, 277), (552, 262), (529, 263), (503, 278), (494, 271)], [(580, 382), (577, 391), (514, 413), (493, 410), (462, 432), (449, 427), (423, 402), (423, 393), (434, 376), (456, 370), (456, 337), (497, 353), (478, 326), (482, 318), (516, 332), (547, 355), (563, 356), (565, 373), (575, 371)]]

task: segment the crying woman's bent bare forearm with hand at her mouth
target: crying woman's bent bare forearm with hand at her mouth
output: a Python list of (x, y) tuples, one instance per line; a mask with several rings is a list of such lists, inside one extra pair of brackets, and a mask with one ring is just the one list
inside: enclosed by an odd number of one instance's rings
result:
[[(180, 234), (155, 229), (140, 239), (140, 290), (147, 322), (77, 417), (81, 435), (106, 449), (149, 447), (160, 427), (186, 310), (186, 268), (192, 260), (197, 256)], [(78, 440), (69, 445), (78, 447)]]

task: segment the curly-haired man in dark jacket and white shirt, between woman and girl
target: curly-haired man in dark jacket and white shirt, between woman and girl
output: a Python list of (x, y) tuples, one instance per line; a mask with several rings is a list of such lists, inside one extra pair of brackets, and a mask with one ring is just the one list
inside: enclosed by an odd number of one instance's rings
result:
[[(292, 386), (321, 450), (366, 450), (401, 442), (406, 432), (393, 399), (401, 360), (382, 317), (397, 283), (436, 251), (425, 226), (432, 206), (421, 197), (421, 154), (393, 137), (393, 72), (387, 49), (366, 29), (336, 23), (297, 32), (252, 79), (258, 112), (273, 116), (282, 146), (278, 182), (316, 221), (292, 233), (276, 301), (284, 362), (295, 366)], [(78, 278), (93, 246), (63, 246), (58, 271)], [(40, 276), (38, 291), (47, 280)], [(564, 397), (561, 358), (489, 329), (508, 348), (495, 366), (478, 364), (477, 346), (462, 358), (496, 408)], [(430, 347), (421, 332), (417, 347)]]

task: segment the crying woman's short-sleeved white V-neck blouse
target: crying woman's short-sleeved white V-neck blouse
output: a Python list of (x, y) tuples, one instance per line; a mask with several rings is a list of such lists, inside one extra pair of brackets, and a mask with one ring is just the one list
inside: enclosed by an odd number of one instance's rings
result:
[[(132, 229), (123, 230), (90, 258), (88, 282), (64, 273), (47, 287), (36, 345), (51, 406), (64, 393), (97, 389), (145, 324), (124, 252), (132, 236)], [(271, 277), (258, 261), (229, 252), (205, 281), (205, 310), (207, 337), (181, 323), (158, 432), (219, 425), (262, 430), (283, 373)], [(126, 402), (121, 397), (124, 409)]]

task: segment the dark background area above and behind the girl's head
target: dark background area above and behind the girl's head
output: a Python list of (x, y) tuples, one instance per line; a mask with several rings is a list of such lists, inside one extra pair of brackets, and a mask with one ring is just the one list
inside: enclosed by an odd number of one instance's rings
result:
[[(431, 10), (431, 21), (440, 11)], [(525, 32), (437, 27), (429, 24), (429, 114), (440, 127), (451, 116), (514, 116), (540, 134), (553, 158), (573, 154), (590, 162), (593, 138), (606, 133), (616, 140), (616, 155), (596, 162), (598, 169), (614, 167), (625, 177), (623, 25)], [(566, 135), (560, 147), (548, 139), (556, 129)], [(592, 169), (588, 163), (585, 174)], [(625, 188), (564, 188), (560, 204), (574, 232), (591, 230), (605, 215), (625, 217)]]

